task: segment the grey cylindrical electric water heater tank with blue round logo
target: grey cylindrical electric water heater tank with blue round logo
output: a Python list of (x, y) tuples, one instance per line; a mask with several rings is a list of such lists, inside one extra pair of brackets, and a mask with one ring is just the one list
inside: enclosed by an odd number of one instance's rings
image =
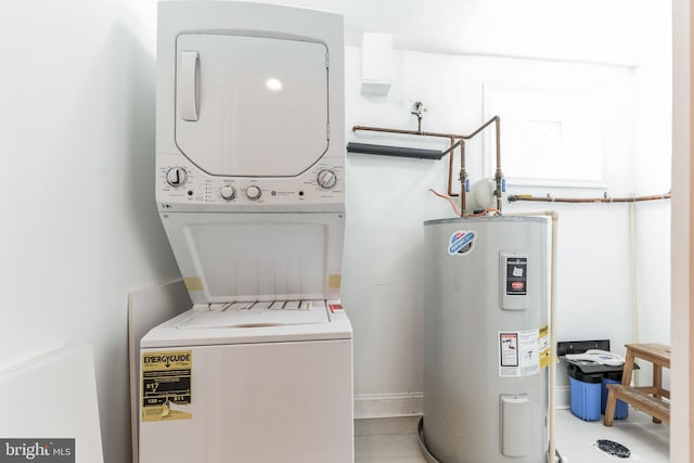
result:
[(424, 222), (423, 440), (433, 461), (541, 463), (550, 220)]

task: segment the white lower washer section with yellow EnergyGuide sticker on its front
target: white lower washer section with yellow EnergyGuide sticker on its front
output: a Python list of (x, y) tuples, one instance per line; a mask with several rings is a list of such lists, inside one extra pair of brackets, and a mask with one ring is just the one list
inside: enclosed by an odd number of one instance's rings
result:
[(141, 463), (354, 462), (349, 320), (292, 310), (191, 310), (145, 336)]

